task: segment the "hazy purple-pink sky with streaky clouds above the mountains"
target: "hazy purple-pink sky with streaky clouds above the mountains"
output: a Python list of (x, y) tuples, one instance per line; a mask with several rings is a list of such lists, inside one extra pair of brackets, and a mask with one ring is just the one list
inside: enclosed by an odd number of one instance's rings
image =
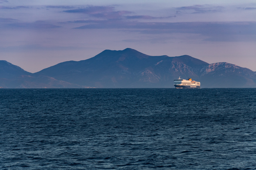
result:
[(125, 48), (256, 71), (256, 0), (0, 0), (0, 60), (26, 71)]

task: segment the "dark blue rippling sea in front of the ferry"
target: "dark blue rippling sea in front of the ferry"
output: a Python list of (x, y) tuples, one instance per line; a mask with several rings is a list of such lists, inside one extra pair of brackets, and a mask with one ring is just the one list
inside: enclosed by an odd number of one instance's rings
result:
[(256, 88), (0, 89), (0, 169), (256, 169)]

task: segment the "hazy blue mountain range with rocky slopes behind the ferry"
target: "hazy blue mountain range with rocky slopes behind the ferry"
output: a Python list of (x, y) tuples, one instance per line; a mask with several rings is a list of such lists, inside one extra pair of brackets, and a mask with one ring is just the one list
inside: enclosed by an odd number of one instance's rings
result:
[(201, 87), (256, 87), (256, 72), (234, 64), (209, 64), (188, 55), (149, 56), (131, 48), (104, 50), (30, 73), (0, 60), (1, 88), (174, 88), (178, 77)]

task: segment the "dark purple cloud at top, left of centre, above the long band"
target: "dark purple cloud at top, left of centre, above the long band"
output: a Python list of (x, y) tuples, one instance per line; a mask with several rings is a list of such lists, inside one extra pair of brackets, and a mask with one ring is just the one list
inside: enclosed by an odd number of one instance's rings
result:
[(112, 6), (88, 6), (87, 8), (82, 9), (71, 9), (71, 10), (65, 10), (63, 12), (70, 12), (70, 13), (82, 13), (87, 14), (91, 17), (97, 17), (97, 18), (120, 18), (124, 14), (131, 14), (130, 11), (115, 11), (114, 7)]

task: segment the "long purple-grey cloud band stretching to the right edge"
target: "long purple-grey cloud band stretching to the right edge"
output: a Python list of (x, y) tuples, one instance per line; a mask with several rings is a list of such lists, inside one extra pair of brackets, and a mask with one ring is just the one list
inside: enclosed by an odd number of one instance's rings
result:
[(75, 29), (123, 29), (142, 34), (198, 34), (205, 41), (256, 41), (256, 22), (136, 22), (125, 20), (85, 20)]

